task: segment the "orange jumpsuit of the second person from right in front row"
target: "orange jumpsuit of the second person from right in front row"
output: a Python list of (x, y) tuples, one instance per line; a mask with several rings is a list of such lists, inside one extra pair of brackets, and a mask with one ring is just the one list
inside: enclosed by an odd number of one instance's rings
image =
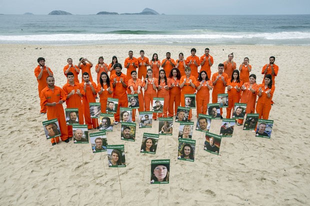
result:
[(241, 93), (240, 103), (246, 103), (246, 114), (251, 114), (255, 112), (255, 103), (256, 103), (256, 95), (258, 85), (256, 83), (253, 84), (252, 89), (255, 90), (255, 93), (248, 90), (249, 82), (243, 84), (245, 86), (245, 90)]

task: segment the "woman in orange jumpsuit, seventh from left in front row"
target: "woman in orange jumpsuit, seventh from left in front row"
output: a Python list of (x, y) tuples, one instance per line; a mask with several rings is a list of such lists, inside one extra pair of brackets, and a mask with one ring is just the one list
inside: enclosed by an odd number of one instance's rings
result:
[[(149, 105), (153, 106), (153, 98), (157, 97), (156, 89), (158, 87), (158, 79), (153, 78), (152, 69), (147, 69), (142, 87), (144, 88), (144, 111), (150, 111)], [(153, 119), (156, 119), (156, 115), (157, 113), (153, 113)]]

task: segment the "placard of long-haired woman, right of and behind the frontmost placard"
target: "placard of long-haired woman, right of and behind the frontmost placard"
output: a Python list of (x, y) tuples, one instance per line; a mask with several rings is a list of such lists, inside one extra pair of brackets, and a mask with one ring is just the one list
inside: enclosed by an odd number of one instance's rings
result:
[(193, 162), (195, 159), (195, 140), (178, 139), (177, 159)]

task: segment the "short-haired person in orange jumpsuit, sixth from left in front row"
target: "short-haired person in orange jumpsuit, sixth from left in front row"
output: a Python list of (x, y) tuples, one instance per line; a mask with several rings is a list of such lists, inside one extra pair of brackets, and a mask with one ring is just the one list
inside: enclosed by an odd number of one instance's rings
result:
[[(139, 112), (144, 111), (144, 98), (142, 92), (143, 83), (141, 79), (136, 78), (136, 71), (131, 71), (131, 79), (128, 80), (128, 94), (138, 94)], [(146, 76), (145, 76), (146, 77)], [(132, 110), (132, 121), (135, 121), (135, 109)]]

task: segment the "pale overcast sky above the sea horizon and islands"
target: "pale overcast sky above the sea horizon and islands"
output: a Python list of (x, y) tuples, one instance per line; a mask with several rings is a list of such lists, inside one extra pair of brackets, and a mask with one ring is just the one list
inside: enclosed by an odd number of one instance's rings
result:
[(137, 13), (146, 7), (165, 14), (310, 14), (310, 0), (0, 0), (3, 14)]

